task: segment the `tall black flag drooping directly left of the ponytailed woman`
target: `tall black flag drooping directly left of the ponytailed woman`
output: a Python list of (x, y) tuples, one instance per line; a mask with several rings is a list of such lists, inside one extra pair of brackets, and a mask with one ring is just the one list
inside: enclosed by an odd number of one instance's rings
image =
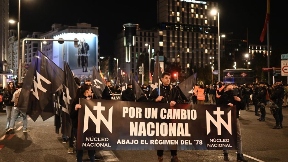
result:
[(72, 122), (70, 119), (71, 104), (73, 103), (79, 86), (74, 80), (74, 76), (69, 65), (65, 61), (64, 81), (63, 81), (63, 101), (62, 101), (62, 129), (61, 133), (70, 137)]

